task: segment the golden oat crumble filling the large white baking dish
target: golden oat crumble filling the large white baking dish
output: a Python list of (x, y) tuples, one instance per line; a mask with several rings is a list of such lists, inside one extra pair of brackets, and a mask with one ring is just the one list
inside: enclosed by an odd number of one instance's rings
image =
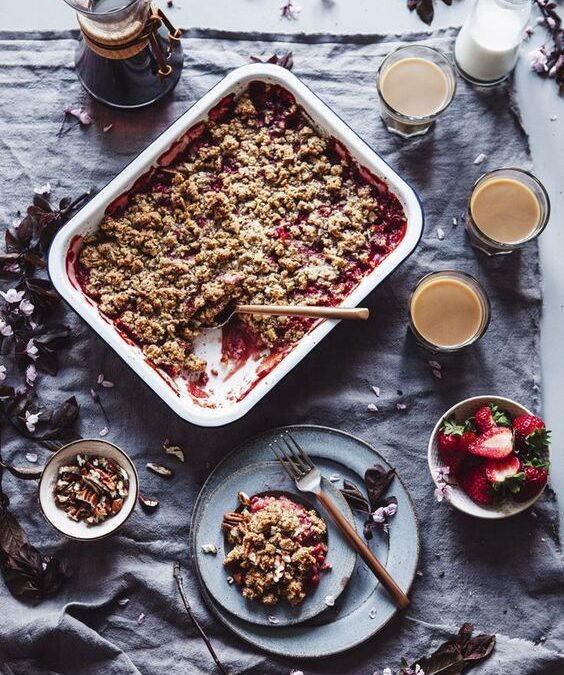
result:
[[(83, 289), (156, 365), (203, 372), (193, 341), (228, 301), (338, 304), (397, 246), (401, 205), (360, 173), (288, 92), (254, 83), (85, 238)], [(311, 325), (240, 321), (275, 350)]]

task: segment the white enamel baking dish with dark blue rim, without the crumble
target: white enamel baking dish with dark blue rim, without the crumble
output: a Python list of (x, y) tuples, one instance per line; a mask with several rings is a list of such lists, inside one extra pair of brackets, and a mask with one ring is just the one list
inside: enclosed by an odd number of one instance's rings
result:
[[(164, 131), (149, 147), (138, 155), (118, 176), (106, 185), (55, 237), (49, 252), (49, 274), (55, 288), (78, 314), (112, 347), (119, 356), (148, 384), (153, 391), (183, 419), (201, 426), (221, 426), (242, 417), (274, 385), (297, 365), (337, 324), (323, 321), (275, 365), (260, 377), (267, 355), (250, 359), (237, 373), (224, 381), (226, 367), (220, 363), (220, 335), (206, 331), (196, 344), (196, 351), (208, 361), (212, 373), (206, 398), (196, 398), (187, 389), (186, 382), (173, 381), (148, 363), (141, 350), (122, 337), (114, 325), (100, 314), (95, 303), (87, 298), (73, 279), (67, 258), (78, 238), (97, 229), (106, 207), (126, 192), (188, 129), (207, 118), (208, 111), (225, 96), (244, 91), (253, 80), (280, 84), (290, 91), (304, 108), (314, 125), (322, 133), (341, 141), (352, 158), (373, 174), (383, 179), (399, 198), (406, 217), (407, 230), (399, 246), (361, 283), (353, 289), (343, 306), (354, 307), (373, 291), (409, 254), (419, 242), (423, 231), (423, 210), (413, 189), (393, 171), (330, 108), (311, 92), (295, 75), (270, 64), (242, 66), (231, 72), (174, 124)], [(376, 115), (374, 111), (374, 115)], [(69, 267), (69, 269), (67, 269)], [(359, 325), (358, 330), (364, 326)]]

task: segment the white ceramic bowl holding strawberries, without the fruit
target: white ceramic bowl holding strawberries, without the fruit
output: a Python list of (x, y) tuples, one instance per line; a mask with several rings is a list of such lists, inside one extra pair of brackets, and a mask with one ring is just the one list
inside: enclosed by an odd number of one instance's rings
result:
[[(429, 470), (431, 471), (433, 481), (435, 481), (435, 469), (438, 469), (440, 466), (444, 466), (444, 461), (439, 453), (439, 446), (437, 442), (443, 420), (447, 417), (454, 416), (457, 422), (462, 422), (467, 417), (471, 417), (478, 408), (483, 405), (487, 405), (488, 403), (497, 405), (499, 408), (509, 413), (511, 417), (516, 417), (517, 415), (534, 414), (520, 403), (517, 403), (510, 398), (504, 398), (503, 396), (474, 396), (472, 398), (467, 398), (464, 401), (460, 401), (460, 403), (457, 403), (456, 405), (453, 405), (452, 408), (449, 408), (441, 416), (435, 425), (435, 428), (433, 429), (431, 438), (429, 439), (427, 458), (429, 461)], [(458, 487), (455, 479), (452, 479), (451, 482), (453, 485), (450, 496), (448, 497), (448, 501), (459, 511), (463, 511), (470, 516), (476, 516), (477, 518), (495, 519), (514, 516), (516, 513), (520, 513), (521, 511), (528, 509), (542, 494), (541, 490), (538, 495), (527, 502), (516, 502), (513, 499), (508, 498), (504, 499), (500, 504), (496, 504), (495, 506), (481, 506), (480, 504), (476, 504), (476, 502), (472, 501), (470, 497), (460, 487)]]

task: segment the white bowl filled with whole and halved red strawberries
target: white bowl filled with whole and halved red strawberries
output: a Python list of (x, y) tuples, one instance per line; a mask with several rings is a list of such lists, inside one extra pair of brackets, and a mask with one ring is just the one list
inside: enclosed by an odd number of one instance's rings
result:
[(550, 432), (516, 401), (475, 396), (437, 422), (429, 441), (435, 495), (479, 518), (507, 518), (539, 498), (548, 481)]

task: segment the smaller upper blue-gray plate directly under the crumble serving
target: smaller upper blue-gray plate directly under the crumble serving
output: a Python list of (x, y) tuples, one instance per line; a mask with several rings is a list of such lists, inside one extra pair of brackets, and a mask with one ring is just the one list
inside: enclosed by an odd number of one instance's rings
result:
[[(323, 488), (333, 497), (337, 506), (354, 523), (352, 511), (335, 487), (324, 479)], [(297, 607), (279, 602), (274, 607), (265, 607), (258, 601), (245, 600), (236, 584), (229, 585), (229, 572), (223, 567), (223, 560), (232, 548), (225, 541), (220, 530), (224, 513), (235, 511), (239, 506), (239, 491), (252, 496), (272, 490), (282, 491), (291, 499), (303, 503), (308, 509), (315, 509), (327, 523), (327, 562), (332, 570), (321, 575), (318, 587)], [(247, 464), (233, 471), (213, 490), (202, 494), (200, 517), (194, 525), (194, 559), (198, 574), (213, 599), (236, 616), (263, 626), (289, 626), (311, 619), (327, 609), (326, 598), (333, 601), (343, 592), (352, 574), (356, 554), (348, 545), (340, 530), (333, 524), (323, 507), (315, 502), (311, 494), (300, 493), (284, 469), (276, 461)], [(217, 555), (205, 553), (202, 546), (215, 544)], [(276, 622), (275, 624), (273, 623)]]

